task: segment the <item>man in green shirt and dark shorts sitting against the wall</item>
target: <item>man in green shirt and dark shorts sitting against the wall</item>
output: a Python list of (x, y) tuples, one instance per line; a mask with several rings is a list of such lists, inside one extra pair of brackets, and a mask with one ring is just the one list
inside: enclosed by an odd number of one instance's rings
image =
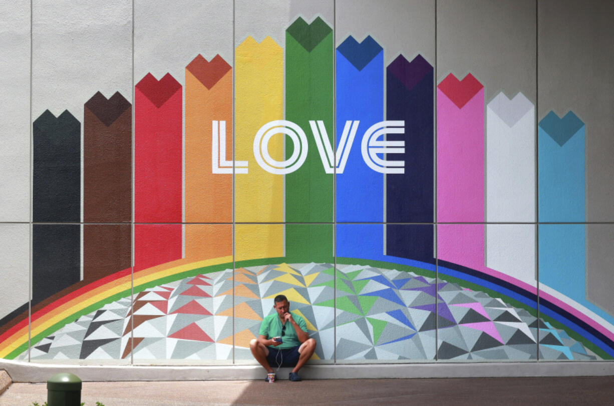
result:
[[(273, 373), (271, 365), (293, 367), (289, 379), (300, 381), (298, 370), (316, 350), (316, 340), (309, 338), (305, 319), (290, 313), (290, 302), (286, 296), (276, 296), (273, 308), (276, 313), (262, 320), (260, 335), (249, 343), (249, 348), (266, 372)], [(273, 337), (280, 337), (281, 342), (273, 340)]]

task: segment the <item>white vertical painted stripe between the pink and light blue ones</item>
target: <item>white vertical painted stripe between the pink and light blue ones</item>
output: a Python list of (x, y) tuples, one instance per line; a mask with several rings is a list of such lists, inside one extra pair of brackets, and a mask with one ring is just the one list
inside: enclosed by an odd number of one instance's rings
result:
[[(500, 92), (486, 108), (486, 221), (535, 221), (535, 107)], [(535, 227), (486, 225), (486, 266), (535, 285)]]

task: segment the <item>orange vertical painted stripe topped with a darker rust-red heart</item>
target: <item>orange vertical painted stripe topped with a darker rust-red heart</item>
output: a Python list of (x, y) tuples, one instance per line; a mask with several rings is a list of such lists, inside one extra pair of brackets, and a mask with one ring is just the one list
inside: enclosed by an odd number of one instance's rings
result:
[[(217, 162), (232, 161), (232, 69), (219, 55), (211, 61), (198, 55), (185, 68), (187, 223), (232, 221), (232, 173), (218, 174), (212, 169), (214, 121), (223, 121), (226, 129), (225, 134), (216, 134), (225, 137), (226, 146), (225, 156), (218, 151)], [(185, 226), (185, 258), (197, 261), (226, 255), (232, 255), (230, 226)]]

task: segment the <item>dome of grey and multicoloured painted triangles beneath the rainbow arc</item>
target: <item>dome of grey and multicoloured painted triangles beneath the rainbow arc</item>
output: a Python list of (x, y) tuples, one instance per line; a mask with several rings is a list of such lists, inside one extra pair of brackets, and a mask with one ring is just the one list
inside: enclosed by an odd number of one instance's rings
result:
[[(35, 343), (30, 357), (125, 359), (133, 351), (139, 360), (231, 360), (234, 346), (235, 359), (252, 359), (249, 341), (278, 294), (305, 318), (319, 359), (432, 360), (437, 327), (438, 359), (523, 360), (537, 351), (540, 359), (598, 358), (564, 331), (483, 292), (442, 280), (436, 286), (412, 272), (339, 264), (335, 272), (315, 263), (227, 269), (155, 286), (132, 303), (123, 298), (81, 316)], [(20, 359), (27, 358), (25, 351)]]

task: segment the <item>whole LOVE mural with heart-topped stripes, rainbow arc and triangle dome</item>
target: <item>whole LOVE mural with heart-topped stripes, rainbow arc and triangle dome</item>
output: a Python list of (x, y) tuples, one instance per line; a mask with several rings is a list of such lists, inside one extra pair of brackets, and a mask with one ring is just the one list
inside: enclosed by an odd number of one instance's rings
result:
[(32, 289), (0, 357), (244, 362), (285, 294), (314, 362), (612, 359), (573, 100), (300, 7), (33, 110)]

